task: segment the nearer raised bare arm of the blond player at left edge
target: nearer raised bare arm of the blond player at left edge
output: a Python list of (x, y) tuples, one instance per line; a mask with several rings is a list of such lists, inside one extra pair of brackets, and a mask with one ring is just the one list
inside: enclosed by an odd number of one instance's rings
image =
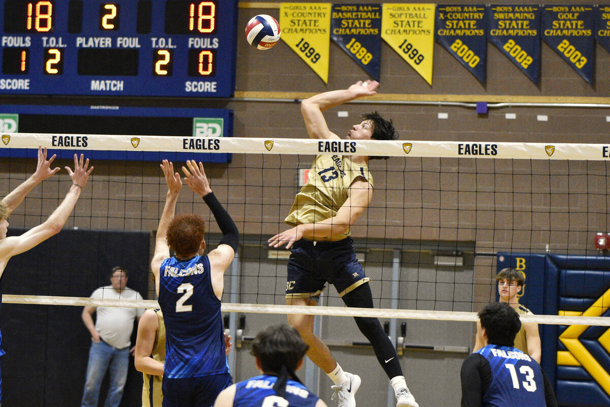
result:
[[(0, 241), (0, 259), (10, 258), (16, 254), (30, 250), (49, 237), (59, 233), (65, 225), (66, 220), (70, 217), (74, 205), (81, 195), (82, 189), (87, 184), (87, 179), (93, 171), (93, 167), (89, 167), (89, 159), (84, 160), (81, 154), (80, 159), (74, 154), (74, 171), (70, 167), (65, 167), (68, 175), (72, 180), (72, 186), (62, 203), (49, 218), (42, 224), (30, 229), (21, 236), (12, 236)], [(52, 170), (55, 171), (55, 170)], [(0, 274), (3, 270), (0, 270)]]

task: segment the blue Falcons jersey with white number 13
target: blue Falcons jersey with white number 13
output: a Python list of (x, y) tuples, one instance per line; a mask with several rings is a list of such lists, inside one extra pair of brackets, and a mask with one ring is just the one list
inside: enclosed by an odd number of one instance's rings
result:
[(517, 348), (487, 345), (476, 351), (491, 369), (483, 406), (546, 406), (540, 365)]

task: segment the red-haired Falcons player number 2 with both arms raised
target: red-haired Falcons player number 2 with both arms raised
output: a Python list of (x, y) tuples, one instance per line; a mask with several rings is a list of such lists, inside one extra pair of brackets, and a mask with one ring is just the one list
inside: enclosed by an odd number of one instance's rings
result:
[[(163, 160), (168, 191), (151, 262), (165, 321), (163, 407), (211, 406), (231, 385), (220, 304), (224, 270), (235, 256), (239, 231), (210, 189), (203, 164), (186, 164), (184, 181), (206, 202), (223, 236), (202, 256), (205, 223), (195, 214), (174, 217), (182, 181), (173, 164)], [(170, 257), (170, 248), (175, 256)]]

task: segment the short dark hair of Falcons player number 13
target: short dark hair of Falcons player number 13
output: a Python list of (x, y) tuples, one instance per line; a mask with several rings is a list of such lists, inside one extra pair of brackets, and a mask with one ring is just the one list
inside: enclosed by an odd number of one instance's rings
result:
[(492, 303), (479, 311), (481, 326), (485, 328), (487, 342), (493, 345), (512, 346), (515, 336), (521, 329), (517, 311), (508, 303)]

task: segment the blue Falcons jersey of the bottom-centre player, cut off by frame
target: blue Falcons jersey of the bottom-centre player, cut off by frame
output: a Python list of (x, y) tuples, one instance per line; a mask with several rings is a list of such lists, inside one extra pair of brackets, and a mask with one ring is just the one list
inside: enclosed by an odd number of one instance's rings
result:
[(260, 375), (235, 384), (233, 407), (314, 407), (319, 397), (298, 381), (286, 381), (284, 398), (273, 390), (277, 376)]

